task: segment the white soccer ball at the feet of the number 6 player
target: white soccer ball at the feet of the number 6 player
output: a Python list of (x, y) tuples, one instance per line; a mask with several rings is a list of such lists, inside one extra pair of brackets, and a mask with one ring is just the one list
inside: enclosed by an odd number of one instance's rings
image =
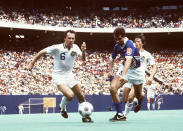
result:
[(90, 116), (93, 112), (93, 105), (89, 102), (79, 104), (78, 112), (81, 116)]

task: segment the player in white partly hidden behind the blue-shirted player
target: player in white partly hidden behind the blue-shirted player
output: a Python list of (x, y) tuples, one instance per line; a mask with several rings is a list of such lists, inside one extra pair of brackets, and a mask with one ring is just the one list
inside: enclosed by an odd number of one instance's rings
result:
[[(151, 85), (153, 77), (156, 73), (156, 65), (152, 55), (143, 49), (144, 44), (145, 44), (145, 37), (143, 35), (137, 35), (135, 37), (135, 45), (138, 48), (140, 53), (141, 64), (142, 64), (142, 67), (144, 68), (144, 77), (145, 77), (145, 71), (147, 70), (147, 65), (151, 65), (150, 77), (146, 79), (146, 85)], [(125, 96), (123, 95), (124, 97), (123, 100), (124, 102), (126, 102), (125, 111), (123, 112), (123, 114), (127, 116), (133, 107), (133, 100), (135, 98), (135, 93), (134, 93), (134, 87), (130, 83), (126, 83), (124, 87), (125, 87), (124, 92), (127, 95)]]

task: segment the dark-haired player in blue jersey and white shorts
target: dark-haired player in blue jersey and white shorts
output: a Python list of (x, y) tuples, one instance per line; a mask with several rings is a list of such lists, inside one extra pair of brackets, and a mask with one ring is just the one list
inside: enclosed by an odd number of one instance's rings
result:
[[(113, 35), (116, 44), (112, 51), (112, 59), (109, 62), (108, 77), (115, 76), (110, 84), (110, 93), (117, 113), (110, 119), (111, 122), (126, 120), (126, 117), (122, 114), (122, 104), (118, 95), (118, 89), (127, 81), (134, 86), (135, 96), (138, 99), (138, 105), (136, 105), (134, 111), (137, 112), (141, 108), (143, 99), (142, 84), (144, 83), (144, 71), (140, 66), (140, 54), (138, 49), (135, 47), (134, 43), (126, 37), (126, 33), (123, 28), (116, 28)], [(124, 60), (117, 72), (117, 75), (114, 75), (114, 60), (118, 54), (120, 54)]]

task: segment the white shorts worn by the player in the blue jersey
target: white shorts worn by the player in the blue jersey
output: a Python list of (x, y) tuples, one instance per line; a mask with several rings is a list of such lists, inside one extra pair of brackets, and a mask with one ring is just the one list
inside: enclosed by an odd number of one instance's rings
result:
[[(122, 75), (123, 67), (124, 66), (121, 65), (119, 70), (117, 71), (118, 76)], [(128, 82), (125, 85), (127, 88), (131, 88), (130, 84), (133, 84), (133, 85), (143, 84), (145, 82), (145, 75), (144, 75), (143, 68), (139, 67), (137, 69), (128, 69), (128, 72), (126, 73), (126, 80), (128, 80)]]

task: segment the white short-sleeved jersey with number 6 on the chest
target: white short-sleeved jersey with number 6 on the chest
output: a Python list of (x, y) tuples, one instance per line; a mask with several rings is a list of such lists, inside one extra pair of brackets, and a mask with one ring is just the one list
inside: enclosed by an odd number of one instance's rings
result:
[(75, 59), (78, 55), (82, 54), (76, 44), (73, 44), (70, 50), (68, 50), (63, 43), (47, 47), (45, 50), (48, 54), (54, 55), (53, 73), (56, 74), (72, 73)]

